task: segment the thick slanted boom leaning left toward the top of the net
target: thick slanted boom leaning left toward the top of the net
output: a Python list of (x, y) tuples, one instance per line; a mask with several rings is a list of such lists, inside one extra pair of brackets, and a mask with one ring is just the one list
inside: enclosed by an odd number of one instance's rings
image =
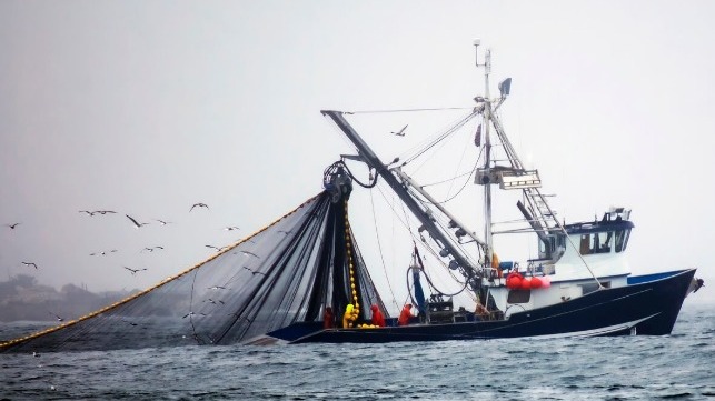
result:
[[(461, 274), (471, 283), (474, 289), (478, 288), (480, 282), (480, 270), (475, 267), (469, 259), (461, 253), (461, 250), (455, 247), (451, 243), (451, 240), (437, 227), (431, 217), (431, 211), (429, 209), (424, 209), (413, 196), (409, 193), (407, 188), (409, 182), (406, 180), (400, 181), (398, 176), (395, 176), (388, 168), (385, 166), (377, 154), (370, 149), (370, 147), (363, 140), (363, 138), (355, 131), (355, 129), (348, 123), (348, 121), (342, 117), (342, 112), (337, 110), (321, 110), (324, 116), (330, 117), (332, 121), (338, 126), (338, 128), (348, 137), (348, 139), (355, 144), (358, 149), (358, 153), (365, 163), (374, 168), (375, 171), (383, 177), (385, 182), (395, 191), (395, 193), (400, 198), (400, 200), (407, 205), (407, 208), (413, 212), (413, 214), (423, 224), (421, 227), (429, 232), (435, 241), (443, 248), (439, 252), (443, 257), (451, 255), (454, 259), (449, 262), (449, 267), (457, 269)], [(456, 265), (455, 265), (456, 263)]]

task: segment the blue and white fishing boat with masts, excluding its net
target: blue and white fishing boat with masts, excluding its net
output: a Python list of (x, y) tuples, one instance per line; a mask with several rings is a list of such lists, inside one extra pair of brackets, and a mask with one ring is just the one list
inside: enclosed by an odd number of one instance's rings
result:
[[(478, 41), (475, 42), (478, 47)], [(479, 63), (477, 62), (477, 66)], [(413, 269), (418, 319), (410, 324), (374, 327), (363, 324), (329, 328), (300, 338), (300, 342), (391, 342), (495, 339), (522, 337), (663, 335), (673, 330), (685, 297), (703, 281), (696, 269), (632, 275), (626, 261), (634, 223), (630, 210), (614, 207), (599, 219), (562, 223), (542, 193), (538, 170), (527, 169), (507, 137), (495, 112), (507, 99), (510, 78), (498, 86), (499, 96), (489, 93), (490, 51), (480, 64), (485, 71), (485, 93), (476, 97), (470, 117), (481, 118), (475, 141), (483, 142), (483, 163), (475, 184), (484, 188), (485, 231), (477, 235), (440, 205), (423, 187), (405, 173), (401, 164), (385, 164), (340, 111), (322, 111), (351, 141), (359, 160), (374, 170), (400, 198), (421, 223), (437, 247), (445, 264), (458, 272), (465, 290), (476, 300), (474, 311), (455, 310), (450, 297), (434, 293), (425, 299), (419, 281), (420, 265)], [(494, 139), (493, 134), (494, 132)], [(481, 138), (483, 137), (483, 138)], [(494, 141), (504, 154), (493, 154)], [(342, 179), (344, 172), (337, 177)], [(341, 186), (332, 180), (328, 187)], [(335, 182), (338, 181), (338, 182)], [(516, 209), (538, 243), (538, 257), (524, 263), (500, 262), (494, 249), (491, 221), (493, 190), (520, 191)], [(446, 217), (447, 229), (436, 214)], [(478, 255), (459, 247), (474, 242)], [(417, 251), (417, 249), (416, 249)], [(413, 298), (414, 299), (414, 298)], [(357, 298), (355, 299), (357, 302)], [(276, 333), (280, 337), (284, 332)]]

